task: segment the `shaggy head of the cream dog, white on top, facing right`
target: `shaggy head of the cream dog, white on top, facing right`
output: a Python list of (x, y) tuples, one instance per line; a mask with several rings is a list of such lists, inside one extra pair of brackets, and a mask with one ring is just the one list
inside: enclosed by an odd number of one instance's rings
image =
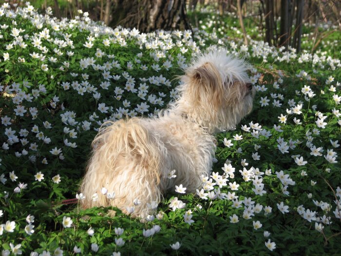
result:
[(178, 87), (178, 107), (210, 130), (232, 129), (251, 112), (255, 89), (243, 60), (212, 50), (197, 57)]

